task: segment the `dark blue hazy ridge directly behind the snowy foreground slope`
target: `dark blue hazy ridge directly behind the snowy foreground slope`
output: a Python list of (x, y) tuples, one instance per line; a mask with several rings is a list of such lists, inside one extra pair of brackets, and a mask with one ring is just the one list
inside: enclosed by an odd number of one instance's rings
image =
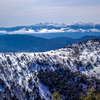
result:
[(85, 36), (79, 39), (57, 37), (45, 39), (30, 35), (0, 35), (0, 52), (42, 52), (63, 48), (67, 45), (100, 36)]

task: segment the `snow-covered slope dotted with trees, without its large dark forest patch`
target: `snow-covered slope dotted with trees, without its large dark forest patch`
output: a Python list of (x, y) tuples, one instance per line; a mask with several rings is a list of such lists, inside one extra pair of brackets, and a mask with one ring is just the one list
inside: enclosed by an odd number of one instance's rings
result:
[[(59, 68), (79, 71), (100, 79), (100, 39), (90, 39), (65, 48), (36, 53), (0, 53), (0, 100), (3, 97), (41, 98), (52, 96), (48, 87), (40, 83), (38, 71)], [(34, 91), (34, 92), (32, 92)], [(29, 96), (30, 94), (30, 96)]]

